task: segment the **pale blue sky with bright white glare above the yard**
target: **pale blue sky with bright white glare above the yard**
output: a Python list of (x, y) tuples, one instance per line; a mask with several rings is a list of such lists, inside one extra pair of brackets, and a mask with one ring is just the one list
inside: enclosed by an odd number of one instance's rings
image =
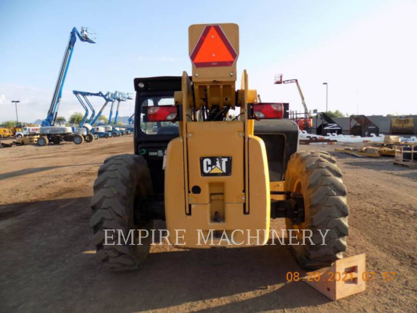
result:
[[(75, 44), (58, 115), (82, 111), (72, 94), (133, 92), (133, 78), (191, 73), (188, 26), (239, 24), (238, 72), (263, 101), (301, 110), (299, 79), (309, 109), (356, 114), (417, 114), (416, 1), (8, 1), (0, 2), (0, 122), (44, 119), (75, 26), (97, 43)], [(240, 75), (240, 74), (239, 74)], [(100, 106), (101, 99), (95, 99)], [(123, 103), (121, 116), (133, 113)], [(108, 109), (105, 111), (108, 114)]]

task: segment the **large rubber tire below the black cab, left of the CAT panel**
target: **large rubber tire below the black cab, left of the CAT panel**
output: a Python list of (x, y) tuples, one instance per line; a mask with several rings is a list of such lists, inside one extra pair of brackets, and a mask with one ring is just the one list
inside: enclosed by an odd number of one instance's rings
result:
[[(152, 241), (150, 230), (153, 221), (144, 220), (139, 222), (140, 225), (134, 225), (134, 202), (135, 199), (151, 194), (151, 174), (142, 156), (134, 154), (112, 156), (106, 159), (98, 170), (98, 177), (94, 182), (94, 195), (91, 199), (93, 216), (90, 219), (90, 227), (93, 228), (92, 242), (96, 246), (96, 253), (107, 268), (126, 271), (136, 270), (143, 265)], [(150, 235), (142, 239), (142, 245), (126, 245), (123, 238), (121, 238), (122, 245), (117, 245), (119, 236), (115, 231), (114, 240), (108, 238), (107, 242), (115, 242), (115, 245), (104, 245), (104, 229), (123, 230), (125, 237), (131, 229), (146, 229)]]

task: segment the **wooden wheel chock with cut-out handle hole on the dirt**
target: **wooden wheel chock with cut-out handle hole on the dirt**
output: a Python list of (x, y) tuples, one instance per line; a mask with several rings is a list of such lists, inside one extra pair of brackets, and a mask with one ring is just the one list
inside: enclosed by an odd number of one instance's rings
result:
[(324, 273), (310, 275), (310, 279), (304, 278), (304, 281), (327, 298), (338, 300), (366, 289), (366, 283), (362, 278), (364, 272), (365, 253), (362, 253), (337, 260)]

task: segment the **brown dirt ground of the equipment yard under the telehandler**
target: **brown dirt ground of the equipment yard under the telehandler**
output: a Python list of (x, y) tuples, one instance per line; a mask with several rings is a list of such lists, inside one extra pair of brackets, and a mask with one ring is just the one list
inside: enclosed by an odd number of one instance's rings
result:
[[(330, 301), (304, 282), (286, 282), (288, 271), (306, 272), (285, 245), (153, 246), (141, 270), (108, 272), (85, 253), (93, 250), (89, 198), (100, 164), (121, 153), (133, 153), (133, 136), (0, 149), (1, 312), (416, 311), (416, 169), (332, 152), (348, 190), (345, 256), (366, 252), (376, 274), (365, 292)], [(394, 280), (384, 282), (383, 272)]]

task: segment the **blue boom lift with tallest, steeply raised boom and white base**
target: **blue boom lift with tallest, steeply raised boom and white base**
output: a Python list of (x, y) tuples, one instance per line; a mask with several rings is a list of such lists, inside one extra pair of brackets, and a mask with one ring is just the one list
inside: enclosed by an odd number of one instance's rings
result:
[(58, 114), (58, 107), (62, 96), (62, 89), (64, 86), (65, 77), (68, 72), (68, 67), (70, 65), (74, 45), (77, 41), (77, 37), (81, 41), (95, 43), (95, 41), (93, 41), (88, 36), (87, 28), (82, 27), (81, 34), (75, 27), (71, 30), (68, 45), (61, 63), (58, 79), (56, 81), (52, 101), (48, 110), (48, 115), (46, 116), (46, 119), (42, 121), (42, 127), (40, 127), (41, 136), (38, 140), (39, 146), (46, 146), (48, 145), (49, 141), (52, 141), (54, 144), (59, 144), (61, 141), (74, 141), (75, 144), (81, 144), (84, 141), (83, 135), (77, 134), (74, 128), (55, 126), (55, 119)]

